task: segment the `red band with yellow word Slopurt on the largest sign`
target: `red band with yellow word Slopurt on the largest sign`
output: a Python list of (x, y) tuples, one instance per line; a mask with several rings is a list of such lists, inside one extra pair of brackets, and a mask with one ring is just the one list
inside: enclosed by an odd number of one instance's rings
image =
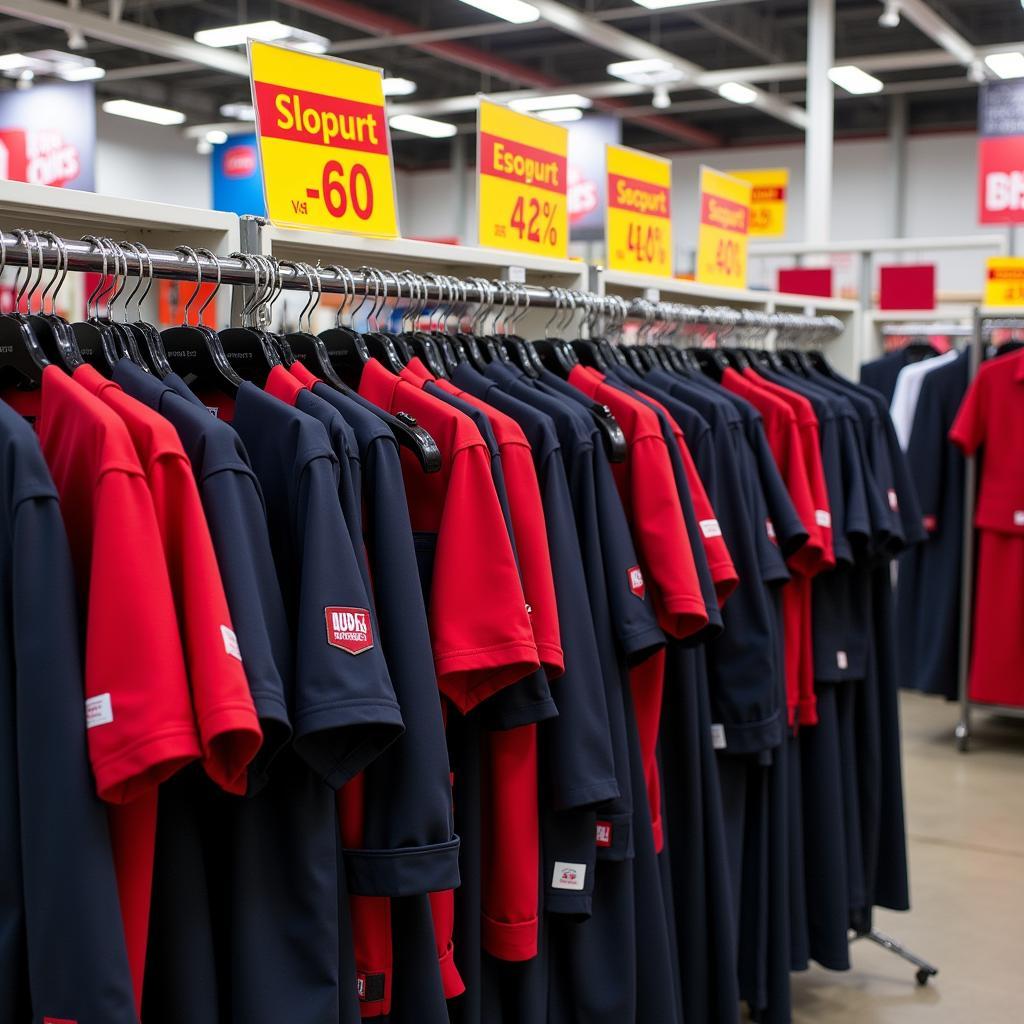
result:
[(257, 82), (255, 92), (264, 138), (387, 154), (383, 106), (269, 82)]

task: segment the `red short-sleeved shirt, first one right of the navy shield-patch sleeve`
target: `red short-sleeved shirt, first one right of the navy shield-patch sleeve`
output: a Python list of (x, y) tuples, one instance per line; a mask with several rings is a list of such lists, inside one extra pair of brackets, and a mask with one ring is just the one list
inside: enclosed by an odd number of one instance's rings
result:
[(437, 539), (427, 597), (437, 682), (465, 714), (540, 667), (490, 455), (468, 417), (376, 359), (362, 370), (359, 393), (415, 416), (441, 452), (437, 473), (424, 473), (406, 449), (401, 460), (413, 529)]

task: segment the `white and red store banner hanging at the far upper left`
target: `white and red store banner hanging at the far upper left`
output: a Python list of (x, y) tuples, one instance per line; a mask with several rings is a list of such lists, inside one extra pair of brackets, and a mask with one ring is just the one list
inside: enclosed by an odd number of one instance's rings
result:
[(0, 93), (0, 178), (95, 191), (95, 163), (92, 83)]

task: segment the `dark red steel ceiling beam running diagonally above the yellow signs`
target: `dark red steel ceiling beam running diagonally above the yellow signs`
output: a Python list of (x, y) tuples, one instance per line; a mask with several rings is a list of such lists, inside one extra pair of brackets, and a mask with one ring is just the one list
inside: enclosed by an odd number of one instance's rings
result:
[[(361, 4), (352, 3), (350, 0), (286, 0), (286, 2), (292, 7), (373, 35), (401, 35), (418, 30), (418, 26), (411, 22), (394, 17), (391, 14), (383, 14), (370, 7), (364, 7)], [(463, 68), (472, 68), (481, 75), (493, 75), (506, 82), (513, 82), (531, 89), (552, 92), (574, 88), (569, 82), (545, 75), (543, 72), (517, 61), (488, 53), (486, 50), (477, 49), (475, 46), (467, 46), (465, 43), (421, 42), (413, 44), (413, 49), (422, 50)], [(617, 104), (615, 100), (608, 99), (603, 100), (599, 105), (613, 110)], [(688, 145), (714, 146), (721, 142), (721, 139), (714, 132), (696, 128), (674, 118), (650, 115), (641, 120), (651, 130), (668, 135), (677, 141), (686, 142)]]

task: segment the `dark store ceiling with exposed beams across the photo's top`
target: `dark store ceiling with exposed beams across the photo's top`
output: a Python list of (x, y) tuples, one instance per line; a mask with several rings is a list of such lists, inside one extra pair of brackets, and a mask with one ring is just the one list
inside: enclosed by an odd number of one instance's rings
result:
[[(223, 121), (221, 104), (248, 100), (249, 93), (244, 77), (190, 59), (194, 33), (272, 18), (326, 37), (333, 52), (416, 82), (414, 95), (392, 102), (467, 129), (473, 113), (458, 108), (469, 102), (441, 100), (478, 91), (592, 86), (594, 109), (621, 116), (624, 141), (640, 147), (671, 152), (801, 137), (807, 0), (713, 0), (660, 11), (631, 0), (561, 0), (545, 9), (547, 2), (537, 0), (541, 19), (511, 25), (460, 0), (70, 0), (77, 10), (69, 9), (68, 0), (0, 0), (0, 38), (8, 53), (66, 50), (68, 33), (59, 26), (67, 11), (68, 24), (87, 23), (85, 46), (77, 52), (106, 69), (96, 83), (101, 98), (175, 108), (190, 125)], [(1021, 4), (897, 2), (907, 10), (897, 27), (884, 28), (881, 0), (837, 0), (836, 62), (862, 66), (885, 83), (882, 92), (864, 96), (837, 89), (837, 135), (883, 134), (894, 105), (904, 102), (910, 131), (973, 128), (977, 87), (968, 69), (912, 24), (909, 5), (938, 15), (984, 55), (985, 47), (1017, 42), (1024, 49)], [(574, 14), (585, 20), (575, 24)], [(690, 79), (672, 87), (670, 105), (656, 110), (650, 90), (631, 92), (606, 71), (608, 63), (635, 55), (624, 51), (636, 40), (697, 66), (697, 72), (730, 71), (735, 75), (726, 78), (753, 80), (759, 98), (751, 105), (730, 102), (717, 93), (722, 76), (702, 80), (700, 88)], [(602, 96), (602, 90), (620, 94)], [(451, 145), (451, 140), (399, 135), (395, 154), (402, 166), (436, 166), (447, 163)]]

